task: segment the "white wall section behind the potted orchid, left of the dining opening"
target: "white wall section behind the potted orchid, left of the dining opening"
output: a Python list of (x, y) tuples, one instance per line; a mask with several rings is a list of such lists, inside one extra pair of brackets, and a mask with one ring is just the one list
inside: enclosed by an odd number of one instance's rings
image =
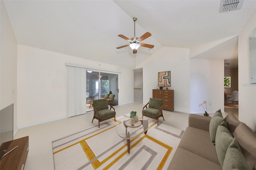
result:
[(190, 113), (204, 113), (204, 100), (208, 113), (224, 112), (223, 77), (223, 59), (190, 59)]

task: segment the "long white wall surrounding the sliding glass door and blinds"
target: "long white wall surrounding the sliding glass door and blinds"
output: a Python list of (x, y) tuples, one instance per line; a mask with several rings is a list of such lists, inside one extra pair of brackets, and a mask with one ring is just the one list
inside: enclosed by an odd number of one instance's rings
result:
[(119, 104), (133, 102), (132, 69), (18, 45), (18, 128), (67, 117), (65, 63), (121, 71)]

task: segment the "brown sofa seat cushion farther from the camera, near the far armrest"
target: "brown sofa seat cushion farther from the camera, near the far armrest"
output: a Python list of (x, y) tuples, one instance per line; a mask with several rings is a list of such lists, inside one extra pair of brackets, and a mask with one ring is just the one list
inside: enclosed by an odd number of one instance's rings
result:
[(184, 148), (216, 164), (220, 164), (216, 148), (210, 140), (208, 131), (187, 127), (178, 147)]

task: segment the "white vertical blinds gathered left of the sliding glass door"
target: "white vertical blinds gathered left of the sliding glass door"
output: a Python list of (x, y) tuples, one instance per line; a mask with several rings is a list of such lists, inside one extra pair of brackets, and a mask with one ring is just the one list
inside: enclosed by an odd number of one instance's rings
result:
[(68, 117), (86, 113), (86, 69), (68, 66)]

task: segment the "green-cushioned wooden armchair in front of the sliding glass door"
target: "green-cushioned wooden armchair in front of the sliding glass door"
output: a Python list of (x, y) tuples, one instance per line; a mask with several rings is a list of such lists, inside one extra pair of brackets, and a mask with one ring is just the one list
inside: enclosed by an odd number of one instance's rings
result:
[[(110, 109), (108, 109), (108, 106), (110, 106)], [(106, 121), (107, 119), (111, 119), (114, 117), (116, 121), (116, 111), (114, 107), (112, 107), (108, 103), (108, 99), (94, 100), (92, 103), (92, 107), (94, 110), (92, 122), (93, 122), (93, 119), (97, 119), (99, 122), (99, 127), (100, 127), (100, 122)], [(114, 111), (112, 111), (111, 109), (113, 109)]]

